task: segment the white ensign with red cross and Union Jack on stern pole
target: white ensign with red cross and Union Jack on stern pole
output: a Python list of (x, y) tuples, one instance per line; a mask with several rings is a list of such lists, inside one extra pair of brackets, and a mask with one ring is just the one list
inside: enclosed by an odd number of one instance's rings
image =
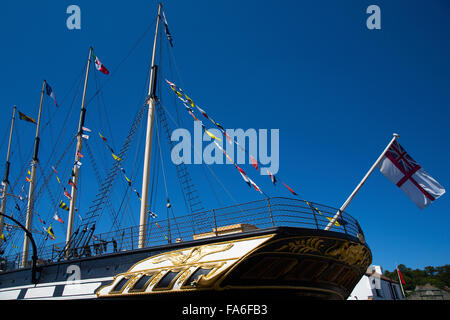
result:
[(394, 141), (378, 168), (423, 209), (445, 193), (445, 189)]

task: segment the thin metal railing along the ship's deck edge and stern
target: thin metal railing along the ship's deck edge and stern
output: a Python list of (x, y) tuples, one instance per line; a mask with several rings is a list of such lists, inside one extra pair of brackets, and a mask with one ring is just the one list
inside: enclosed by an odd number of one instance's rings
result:
[[(147, 227), (146, 246), (167, 245), (179, 241), (220, 235), (223, 227), (243, 224), (253, 229), (270, 227), (300, 227), (324, 230), (338, 209), (291, 198), (267, 198), (229, 207), (204, 211), (194, 217), (186, 215), (167, 219), (152, 219)], [(203, 217), (199, 220), (199, 217)], [(363, 236), (358, 221), (343, 212), (330, 231), (353, 237)], [(139, 226), (124, 228), (114, 232), (95, 234), (89, 245), (72, 249), (70, 258), (98, 256), (138, 248)], [(65, 243), (42, 248), (39, 263), (55, 262)], [(5, 269), (14, 269), (20, 261), (20, 253), (4, 257), (8, 262)], [(5, 263), (4, 263), (5, 264)], [(1, 268), (0, 268), (1, 269)]]

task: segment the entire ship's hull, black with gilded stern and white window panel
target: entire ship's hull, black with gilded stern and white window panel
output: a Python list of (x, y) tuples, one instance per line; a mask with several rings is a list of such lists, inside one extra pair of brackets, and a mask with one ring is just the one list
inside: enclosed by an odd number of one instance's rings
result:
[[(371, 260), (349, 235), (274, 227), (52, 263), (40, 266), (36, 285), (30, 269), (3, 272), (0, 299), (343, 300)], [(192, 281), (201, 268), (210, 273)], [(161, 286), (169, 272), (173, 281)], [(133, 289), (143, 276), (148, 283)]]

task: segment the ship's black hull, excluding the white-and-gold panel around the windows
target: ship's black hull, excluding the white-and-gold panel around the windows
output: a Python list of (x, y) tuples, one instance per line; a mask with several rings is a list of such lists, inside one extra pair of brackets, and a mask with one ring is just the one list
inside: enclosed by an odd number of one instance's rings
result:
[[(270, 241), (245, 256), (214, 288), (177, 292), (156, 292), (139, 295), (108, 295), (100, 299), (147, 299), (152, 301), (190, 302), (196, 299), (210, 303), (223, 303), (223, 299), (275, 300), (344, 300), (364, 274), (371, 262), (370, 249), (355, 237), (339, 232), (274, 227), (240, 234), (175, 243), (63, 261), (39, 267), (39, 283), (31, 284), (31, 269), (0, 273), (0, 293), (16, 288), (13, 299), (84, 299), (97, 298), (100, 288), (111, 284), (121, 273), (126, 273), (139, 261), (171, 251), (186, 248), (241, 241), (247, 238), (271, 235)], [(302, 242), (303, 241), (303, 242)], [(305, 242), (306, 241), (306, 242)], [(305, 245), (306, 243), (306, 245)], [(355, 251), (354, 249), (357, 250)], [(77, 266), (80, 279), (94, 290), (90, 294), (65, 294), (71, 273)], [(45, 296), (30, 295), (28, 290), (48, 286)], [(50, 289), (53, 288), (53, 289)], [(97, 295), (93, 294), (97, 293)], [(197, 300), (198, 301), (198, 300)]]

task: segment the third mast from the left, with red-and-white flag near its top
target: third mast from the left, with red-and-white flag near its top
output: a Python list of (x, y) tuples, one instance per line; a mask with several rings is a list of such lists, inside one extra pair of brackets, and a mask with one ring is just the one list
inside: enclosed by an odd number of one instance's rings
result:
[(68, 248), (70, 238), (72, 236), (72, 230), (73, 230), (73, 217), (74, 217), (74, 211), (75, 211), (75, 200), (77, 197), (77, 188), (78, 188), (78, 173), (79, 173), (79, 165), (78, 161), (80, 161), (79, 154), (81, 153), (81, 147), (82, 147), (82, 141), (83, 141), (83, 127), (84, 127), (84, 120), (86, 117), (86, 108), (84, 107), (85, 99), (86, 99), (86, 90), (87, 90), (87, 83), (88, 83), (88, 77), (89, 77), (89, 67), (91, 65), (91, 57), (92, 57), (92, 47), (89, 48), (89, 58), (88, 63), (86, 67), (86, 76), (84, 78), (84, 89), (83, 89), (83, 99), (81, 100), (81, 112), (80, 112), (80, 121), (78, 123), (78, 133), (77, 133), (77, 147), (75, 151), (75, 162), (73, 165), (73, 184), (72, 186), (72, 192), (71, 192), (71, 199), (70, 199), (70, 206), (69, 206), (69, 218), (67, 221), (67, 234), (66, 234), (66, 248)]

